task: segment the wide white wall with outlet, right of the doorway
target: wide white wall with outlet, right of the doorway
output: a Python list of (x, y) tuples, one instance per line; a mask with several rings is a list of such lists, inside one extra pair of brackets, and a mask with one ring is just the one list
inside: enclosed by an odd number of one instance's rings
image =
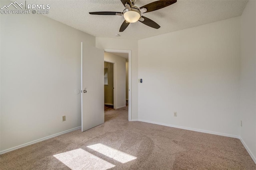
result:
[(139, 40), (138, 47), (139, 120), (238, 136), (240, 17)]

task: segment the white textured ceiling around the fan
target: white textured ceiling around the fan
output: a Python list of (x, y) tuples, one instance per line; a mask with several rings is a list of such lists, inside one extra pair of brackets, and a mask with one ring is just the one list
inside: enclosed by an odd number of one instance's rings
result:
[[(20, 0), (19, 0), (20, 1)], [(155, 0), (138, 0), (140, 7)], [(158, 30), (140, 22), (131, 23), (124, 32), (119, 28), (124, 21), (122, 16), (90, 15), (88, 12), (122, 12), (120, 0), (27, 0), (28, 3), (50, 4), (45, 16), (96, 37), (143, 39), (219, 20), (240, 16), (247, 0), (177, 0), (175, 4), (142, 14), (158, 23)], [(120, 37), (116, 37), (120, 34)]]

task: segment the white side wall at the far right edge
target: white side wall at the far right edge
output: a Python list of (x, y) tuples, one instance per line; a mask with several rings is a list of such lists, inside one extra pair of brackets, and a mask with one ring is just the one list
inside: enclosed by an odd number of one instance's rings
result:
[(241, 138), (256, 163), (256, 2), (241, 16)]

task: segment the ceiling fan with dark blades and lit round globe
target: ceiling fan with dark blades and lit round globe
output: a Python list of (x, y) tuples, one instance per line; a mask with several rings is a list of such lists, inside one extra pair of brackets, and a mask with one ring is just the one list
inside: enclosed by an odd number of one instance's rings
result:
[(140, 8), (135, 6), (137, 0), (121, 0), (124, 4), (125, 9), (123, 12), (110, 12), (110, 11), (102, 11), (102, 12), (89, 12), (89, 14), (93, 15), (119, 15), (124, 17), (124, 22), (120, 27), (119, 32), (123, 32), (130, 23), (134, 23), (140, 21), (141, 23), (150, 26), (152, 28), (160, 28), (156, 22), (142, 16), (143, 13), (152, 12), (155, 10), (159, 10), (171, 4), (177, 2), (177, 0), (157, 0), (155, 2), (151, 2), (146, 4)]

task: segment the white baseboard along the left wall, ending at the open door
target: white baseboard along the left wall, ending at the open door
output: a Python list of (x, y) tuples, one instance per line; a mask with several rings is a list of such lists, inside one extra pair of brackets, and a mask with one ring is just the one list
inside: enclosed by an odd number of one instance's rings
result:
[(25, 144), (21, 144), (21, 145), (19, 145), (19, 146), (15, 146), (15, 147), (10, 148), (10, 149), (6, 149), (6, 150), (3, 150), (3, 151), (0, 151), (0, 154), (4, 154), (4, 153), (10, 152), (10, 151), (12, 151), (12, 150), (16, 150), (16, 149), (19, 149), (19, 148), (23, 148), (23, 147), (25, 147), (25, 146), (28, 146), (28, 145), (31, 145), (31, 144), (35, 144), (35, 143), (37, 143), (37, 142), (41, 142), (41, 141), (43, 141), (43, 140), (47, 140), (47, 139), (50, 139), (50, 138), (59, 136), (59, 135), (61, 135), (61, 134), (65, 134), (65, 133), (68, 133), (68, 132), (72, 132), (72, 131), (78, 130), (78, 129), (81, 129), (81, 126), (80, 126), (80, 127), (76, 127), (76, 128), (72, 128), (72, 129), (69, 129), (69, 130), (65, 130), (65, 131), (63, 131), (63, 132), (59, 132), (59, 133), (56, 133), (56, 134), (52, 134), (52, 135), (50, 135), (50, 136), (46, 136), (46, 137), (44, 137), (44, 138), (40, 138), (40, 139), (34, 140), (34, 141), (32, 141), (32, 142), (28, 142), (28, 143), (25, 143)]

